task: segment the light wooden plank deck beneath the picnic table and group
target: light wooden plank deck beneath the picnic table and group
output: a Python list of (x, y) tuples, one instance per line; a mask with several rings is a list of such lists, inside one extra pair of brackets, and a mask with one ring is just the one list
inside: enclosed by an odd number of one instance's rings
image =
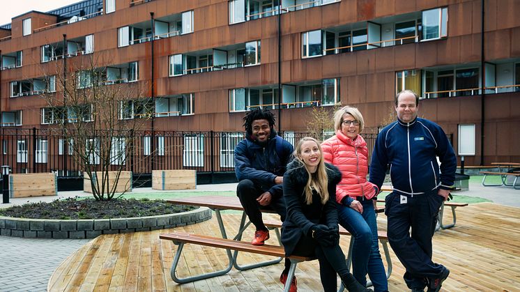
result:
[[(446, 212), (446, 221), (451, 214)], [(223, 215), (228, 235), (236, 231), (239, 215)], [(275, 218), (275, 217), (274, 217)], [(378, 217), (385, 230), (385, 216)], [(178, 285), (169, 276), (176, 245), (159, 234), (183, 231), (219, 236), (217, 220), (176, 229), (103, 235), (61, 263), (49, 280), (49, 291), (282, 291), (278, 277), (283, 263)], [(252, 228), (244, 238), (252, 238)], [(271, 232), (269, 243), (275, 244)], [(342, 236), (346, 252), (349, 237)], [(391, 251), (390, 291), (406, 291), (404, 268)], [(223, 268), (222, 249), (186, 245), (179, 265), (181, 277)], [(263, 261), (265, 256), (241, 254), (239, 263)], [(443, 291), (520, 291), (520, 208), (477, 203), (457, 212), (457, 226), (434, 236), (434, 260), (450, 268)], [(321, 291), (318, 261), (298, 264), (298, 291)]]

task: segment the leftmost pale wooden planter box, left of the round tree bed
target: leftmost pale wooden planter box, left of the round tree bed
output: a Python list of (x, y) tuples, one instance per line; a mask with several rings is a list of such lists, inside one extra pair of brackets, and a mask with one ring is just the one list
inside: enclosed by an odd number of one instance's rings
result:
[(56, 174), (10, 174), (9, 197), (56, 196), (58, 180)]

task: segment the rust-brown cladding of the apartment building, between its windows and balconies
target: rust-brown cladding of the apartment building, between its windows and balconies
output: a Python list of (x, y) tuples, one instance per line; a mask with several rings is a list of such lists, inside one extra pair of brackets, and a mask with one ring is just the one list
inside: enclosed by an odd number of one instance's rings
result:
[[(192, 96), (193, 108), (188, 113), (175, 116), (156, 114), (153, 129), (150, 130), (241, 131), (244, 112), (231, 110), (231, 91), (260, 89), (259, 92), (263, 94), (266, 92), (264, 88), (273, 89), (275, 93), (271, 100), (275, 103), (276, 95), (280, 96), (280, 93), (276, 93), (280, 67), (282, 85), (293, 88), (293, 91), (282, 91), (280, 116), (277, 105), (272, 106), (275, 107), (273, 111), (281, 122), (282, 130), (305, 132), (305, 121), (312, 107), (307, 106), (309, 103), (298, 103), (298, 98), (307, 94), (308, 84), (318, 84), (313, 90), (324, 92), (323, 87), (319, 87), (321, 80), (337, 80), (334, 88), (338, 101), (342, 105), (358, 107), (364, 115), (367, 131), (376, 133), (385, 118), (388, 119), (393, 107), (400, 82), (398, 76), (417, 74), (419, 81), (412, 82), (420, 84), (420, 95), (425, 98), (420, 101), (419, 114), (439, 123), (451, 135), (456, 153), (459, 125), (474, 125), (475, 155), (466, 156), (466, 165), (520, 161), (520, 17), (517, 17), (520, 6), (517, 1), (341, 0), (316, 1), (314, 7), (295, 6), (294, 9), (284, 7), (290, 6), (289, 2), (298, 4), (300, 1), (281, 1), (280, 10), (285, 12), (281, 15), (277, 15), (279, 1), (259, 1), (261, 5), (269, 2), (272, 10), (264, 9), (262, 12), (263, 8), (258, 8), (263, 17), (252, 19), (254, 17), (246, 16), (249, 20), (230, 24), (231, 6), (235, 1), (115, 0), (115, 11), (112, 13), (100, 12), (95, 17), (59, 26), (52, 24), (59, 22), (60, 17), (49, 13), (31, 11), (14, 17), (10, 30), (0, 29), (0, 36), (3, 36), (0, 38), (0, 54), (2, 57), (13, 56), (15, 52), (22, 51), (22, 66), (3, 68), (0, 72), (0, 111), (3, 114), (21, 110), (22, 121), (16, 125), (19, 128), (52, 127), (41, 122), (40, 109), (47, 107), (45, 100), (37, 94), (12, 97), (11, 83), (42, 77), (44, 72), (52, 72), (63, 63), (63, 58), (42, 63), (42, 46), (59, 45), (64, 41), (93, 35), (93, 53), (66, 57), (69, 66), (91, 57), (98, 61), (96, 66), (99, 67), (137, 62), (137, 82), (146, 88), (148, 96)], [(252, 0), (242, 1), (247, 7), (256, 7), (251, 4), (254, 2)], [(108, 2), (110, 0), (103, 1), (103, 11), (107, 11)], [(418, 29), (425, 29), (428, 24), (424, 17), (425, 11), (436, 8), (439, 8), (439, 13), (446, 12), (440, 16), (447, 24), (444, 36), (431, 40), (420, 39), (419, 36), (415, 41), (397, 45), (399, 40), (395, 40), (398, 39), (395, 33), (402, 21), (415, 22), (415, 34), (420, 34)], [(177, 19), (184, 22), (184, 13), (189, 11), (192, 11), (192, 27), (185, 31), (186, 24), (178, 24), (180, 22)], [(247, 11), (250, 15), (254, 14)], [(28, 18), (31, 18), (31, 33), (24, 36), (24, 20)], [(482, 21), (484, 36), (481, 33)], [(153, 32), (159, 27), (155, 26), (156, 22), (168, 23), (165, 24), (168, 31), (174, 26), (184, 27), (180, 32), (168, 34), (169, 37), (152, 37), (121, 46), (120, 35), (124, 30), (120, 28), (129, 26), (131, 31), (134, 31), (132, 27), (138, 28), (135, 31), (146, 31), (153, 26)], [(47, 26), (46, 29), (40, 29), (44, 26)], [(372, 26), (379, 27), (379, 39), (375, 40), (374, 45), (369, 45), (373, 41), (370, 38), (377, 35), (370, 35), (374, 31)], [(351, 47), (329, 51), (334, 54), (323, 53), (303, 58), (304, 33), (321, 31), (322, 42), (326, 39), (332, 42), (334, 39), (335, 47), (341, 47), (339, 38), (345, 36), (342, 35), (343, 31), (355, 33), (359, 27), (368, 27), (365, 33), (367, 45), (363, 49), (352, 47), (355, 34), (351, 34), (347, 36), (351, 40)], [(394, 33), (391, 37), (393, 41), (385, 38), (385, 34), (389, 33)], [(157, 31), (154, 36), (156, 34)], [(146, 32), (144, 36), (146, 38)], [(310, 38), (310, 33), (308, 36)], [(238, 52), (243, 47), (240, 44), (252, 41), (261, 43), (261, 49), (257, 47), (257, 63), (216, 70), (215, 51), (225, 51), (229, 59), (232, 49)], [(323, 52), (326, 52), (328, 46), (324, 43), (321, 45)], [(194, 56), (188, 56), (193, 52), (196, 53)], [(211, 69), (208, 72), (193, 69), (193, 74), (171, 76), (171, 59), (178, 54), (188, 63), (191, 58), (197, 63), (197, 68)], [(204, 61), (206, 63), (201, 61), (203, 55), (208, 58), (207, 62)], [(213, 66), (210, 59), (213, 60)], [(187, 72), (186, 67), (182, 69)], [(484, 78), (482, 71), (486, 71)], [(398, 75), (398, 72), (402, 75)], [(406, 82), (404, 88), (407, 87)], [(470, 86), (472, 82), (476, 82), (475, 88)], [(284, 96), (286, 92), (294, 92), (291, 98), (291, 102), (295, 102), (293, 108), (284, 106), (290, 103)], [(62, 95), (57, 85), (55, 94)], [(258, 105), (249, 102), (247, 105)], [(328, 106), (323, 102), (316, 105)], [(4, 126), (11, 126), (4, 120), (2, 116)]]

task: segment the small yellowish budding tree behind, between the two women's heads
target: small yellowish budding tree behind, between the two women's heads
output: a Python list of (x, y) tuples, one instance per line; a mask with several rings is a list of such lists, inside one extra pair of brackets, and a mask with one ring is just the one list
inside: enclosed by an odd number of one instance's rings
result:
[[(327, 139), (328, 133), (334, 133), (334, 112), (341, 107), (336, 104), (333, 107), (312, 107), (312, 110), (307, 120), (307, 131), (309, 136), (323, 141)], [(332, 134), (334, 135), (334, 134)]]

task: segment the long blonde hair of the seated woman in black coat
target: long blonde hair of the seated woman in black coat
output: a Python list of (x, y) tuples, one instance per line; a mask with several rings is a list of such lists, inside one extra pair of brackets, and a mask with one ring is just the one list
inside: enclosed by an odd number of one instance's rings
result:
[[(302, 144), (306, 141), (314, 141), (316, 145), (318, 145), (318, 149), (320, 152), (320, 160), (318, 167), (316, 168), (316, 176), (312, 176), (311, 172), (307, 168), (307, 164), (303, 162), (303, 160), (300, 158), (301, 151), (302, 151)], [(328, 176), (327, 176), (327, 170), (325, 167), (325, 162), (323, 162), (323, 151), (321, 151), (321, 145), (319, 142), (312, 138), (312, 137), (303, 137), (299, 142), (298, 146), (296, 146), (296, 149), (293, 153), (294, 159), (298, 160), (302, 164), (302, 167), (305, 167), (305, 170), (307, 171), (307, 174), (309, 175), (309, 179), (307, 180), (307, 185), (305, 185), (305, 203), (307, 205), (310, 205), (312, 203), (312, 190), (316, 190), (316, 192), (321, 197), (321, 203), (325, 205), (325, 203), (328, 201)]]

